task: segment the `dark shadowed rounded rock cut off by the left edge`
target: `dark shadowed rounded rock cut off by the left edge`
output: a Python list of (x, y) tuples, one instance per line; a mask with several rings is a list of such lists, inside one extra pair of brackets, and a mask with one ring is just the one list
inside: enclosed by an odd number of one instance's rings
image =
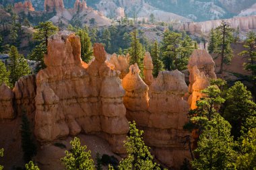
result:
[(13, 92), (7, 85), (0, 86), (0, 120), (11, 120), (15, 118), (13, 109)]

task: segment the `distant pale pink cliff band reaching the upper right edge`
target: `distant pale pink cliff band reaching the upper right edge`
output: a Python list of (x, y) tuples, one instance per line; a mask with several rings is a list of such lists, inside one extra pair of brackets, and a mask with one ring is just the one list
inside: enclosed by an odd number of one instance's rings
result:
[[(256, 16), (248, 17), (233, 17), (231, 19), (225, 19), (231, 26), (231, 28), (239, 29), (243, 32), (256, 29)], [(190, 32), (191, 34), (209, 34), (212, 28), (220, 26), (222, 20), (212, 20), (207, 22), (190, 22), (181, 24), (177, 29), (181, 31)]]

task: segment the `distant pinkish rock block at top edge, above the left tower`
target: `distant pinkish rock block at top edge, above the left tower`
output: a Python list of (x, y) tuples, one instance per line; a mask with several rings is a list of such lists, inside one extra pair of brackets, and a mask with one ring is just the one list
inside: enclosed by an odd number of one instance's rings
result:
[(44, 10), (47, 12), (63, 11), (65, 9), (63, 0), (44, 0)]

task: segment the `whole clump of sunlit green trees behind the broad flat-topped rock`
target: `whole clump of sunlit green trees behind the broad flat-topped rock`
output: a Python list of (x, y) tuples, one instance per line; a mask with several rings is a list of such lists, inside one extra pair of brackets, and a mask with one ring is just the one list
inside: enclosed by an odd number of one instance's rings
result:
[(189, 36), (167, 30), (164, 32), (161, 46), (165, 69), (168, 71), (186, 69), (189, 56), (195, 49), (195, 42)]

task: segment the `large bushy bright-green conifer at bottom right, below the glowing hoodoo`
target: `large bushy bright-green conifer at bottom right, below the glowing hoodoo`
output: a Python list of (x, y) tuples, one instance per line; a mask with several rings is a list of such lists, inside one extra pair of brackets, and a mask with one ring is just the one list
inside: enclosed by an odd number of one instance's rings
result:
[(194, 151), (195, 155), (198, 155), (198, 158), (191, 162), (194, 168), (234, 169), (236, 153), (232, 149), (234, 142), (230, 129), (230, 124), (219, 114), (207, 122)]

